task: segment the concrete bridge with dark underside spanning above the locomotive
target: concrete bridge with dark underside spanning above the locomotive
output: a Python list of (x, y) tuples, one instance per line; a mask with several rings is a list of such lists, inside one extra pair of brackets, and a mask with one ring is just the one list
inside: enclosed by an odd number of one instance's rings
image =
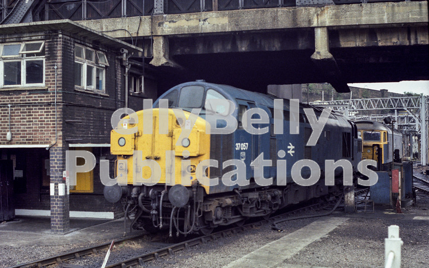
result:
[[(158, 14), (79, 21), (145, 48), (166, 86), (193, 79), (268, 84), (429, 79), (427, 2)], [(153, 40), (153, 42), (152, 42)]]

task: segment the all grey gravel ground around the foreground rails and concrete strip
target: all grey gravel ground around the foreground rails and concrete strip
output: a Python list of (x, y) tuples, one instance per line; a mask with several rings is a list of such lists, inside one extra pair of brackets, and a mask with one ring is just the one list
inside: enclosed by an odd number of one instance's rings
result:
[[(428, 267), (429, 221), (412, 220), (416, 215), (429, 216), (428, 205), (429, 200), (421, 200), (417, 206), (403, 209), (402, 214), (397, 214), (387, 206), (377, 206), (376, 213), (373, 214), (334, 212), (332, 216), (349, 217), (349, 220), (326, 236), (314, 241), (292, 258), (285, 260), (284, 263), (328, 267), (384, 266), (384, 239), (387, 237), (387, 227), (396, 224), (400, 228), (400, 237), (404, 242), (402, 267)], [(297, 215), (322, 212), (324, 211), (307, 211)], [(284, 229), (283, 232), (272, 230), (270, 224), (263, 224), (239, 234), (192, 247), (187, 251), (177, 252), (174, 256), (161, 257), (158, 260), (145, 263), (142, 267), (222, 267), (316, 220), (317, 218), (306, 218), (284, 222), (280, 225)], [(117, 238), (120, 238), (120, 234)], [(99, 245), (103, 242), (106, 241), (97, 240), (61, 246), (0, 246), (0, 252), (2, 252), (0, 254), (0, 266), (16, 265), (18, 261), (22, 263), (40, 259), (72, 249)], [(168, 239), (166, 234), (158, 234), (147, 236), (139, 241), (118, 244), (111, 252), (108, 263), (112, 264), (136, 254), (144, 254), (156, 248), (163, 248), (174, 242), (176, 241)], [(84, 256), (68, 264), (100, 267), (105, 254), (106, 251), (101, 251), (96, 255)]]

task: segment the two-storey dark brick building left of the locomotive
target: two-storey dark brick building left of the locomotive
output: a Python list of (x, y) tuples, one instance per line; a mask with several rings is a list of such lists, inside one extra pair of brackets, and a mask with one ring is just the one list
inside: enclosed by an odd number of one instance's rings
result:
[[(99, 160), (114, 161), (112, 113), (125, 102), (139, 110), (142, 99), (157, 96), (156, 83), (131, 64), (139, 53), (70, 20), (0, 26), (0, 162), (13, 168), (9, 208), (16, 214), (50, 215), (51, 230), (66, 232), (69, 216), (113, 218), (122, 212), (120, 204), (104, 200)], [(90, 151), (97, 159), (68, 189), (67, 150)]]

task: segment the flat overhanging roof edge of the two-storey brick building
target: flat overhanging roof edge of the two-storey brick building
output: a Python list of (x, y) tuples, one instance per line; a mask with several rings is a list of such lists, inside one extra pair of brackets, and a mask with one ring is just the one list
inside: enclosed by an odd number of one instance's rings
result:
[(5, 35), (8, 34), (23, 34), (55, 30), (62, 30), (72, 35), (82, 37), (88, 42), (98, 41), (101, 44), (110, 46), (111, 48), (116, 48), (118, 50), (121, 48), (125, 48), (129, 52), (143, 51), (141, 48), (135, 45), (131, 45), (119, 39), (110, 37), (106, 34), (94, 31), (69, 19), (0, 25), (0, 37), (5, 38)]

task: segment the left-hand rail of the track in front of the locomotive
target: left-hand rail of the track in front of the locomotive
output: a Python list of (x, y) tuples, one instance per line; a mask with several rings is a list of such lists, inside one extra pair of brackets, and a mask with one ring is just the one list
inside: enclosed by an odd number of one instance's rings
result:
[[(128, 238), (116, 240), (115, 243), (122, 243), (122, 242), (137, 240), (137, 239), (144, 237), (145, 235), (147, 235), (147, 234), (130, 236)], [(80, 258), (82, 256), (86, 256), (86, 255), (90, 255), (90, 254), (97, 254), (101, 250), (107, 250), (110, 247), (110, 243), (111, 242), (107, 242), (107, 243), (103, 243), (103, 244), (98, 245), (98, 246), (89, 247), (89, 248), (85, 248), (82, 250), (71, 251), (71, 252), (55, 255), (52, 257), (47, 257), (47, 258), (43, 258), (43, 259), (39, 259), (39, 260), (27, 262), (27, 263), (22, 263), (22, 264), (19, 264), (16, 266), (11, 266), (9, 268), (44, 267), (47, 265), (59, 264), (61, 262), (71, 260), (71, 259), (75, 259), (75, 258)]]

